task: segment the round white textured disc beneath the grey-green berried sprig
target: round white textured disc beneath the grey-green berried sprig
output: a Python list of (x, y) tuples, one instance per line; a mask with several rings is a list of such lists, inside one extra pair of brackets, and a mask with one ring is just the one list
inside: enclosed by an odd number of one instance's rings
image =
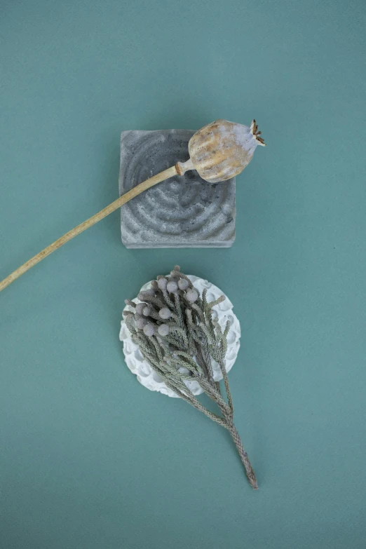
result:
[[(208, 280), (203, 280), (203, 278), (198, 278), (197, 276), (188, 275), (191, 282), (193, 283), (196, 290), (199, 294), (202, 295), (203, 290), (208, 292), (208, 301), (213, 301), (218, 297), (224, 295), (222, 290), (219, 290), (217, 286), (208, 282)], [(148, 290), (151, 287), (151, 283), (146, 283), (142, 286), (141, 292), (143, 290)], [(233, 304), (231, 303), (229, 297), (225, 296), (226, 299), (222, 301), (219, 305), (215, 306), (213, 317), (217, 318), (219, 326), (222, 330), (225, 329), (226, 322), (229, 320), (230, 329), (227, 335), (227, 352), (225, 355), (225, 369), (226, 372), (230, 372), (231, 368), (236, 361), (238, 356), (239, 347), (240, 347), (240, 323), (238, 317), (233, 312)], [(135, 303), (140, 303), (140, 300), (135, 298), (133, 299)], [(126, 306), (124, 310), (132, 311), (132, 307)], [(173, 398), (177, 398), (177, 393), (168, 388), (161, 377), (154, 372), (154, 370), (149, 365), (149, 362), (144, 359), (140, 353), (140, 349), (137, 344), (133, 341), (128, 327), (126, 327), (126, 322), (121, 321), (121, 330), (119, 332), (119, 339), (123, 341), (123, 353), (125, 355), (126, 364), (130, 368), (131, 372), (137, 376), (137, 381), (140, 381), (144, 387), (147, 387), (150, 391), (158, 391), (163, 395), (168, 395)], [(222, 372), (219, 367), (219, 363), (216, 360), (212, 359), (212, 370), (214, 374), (215, 381), (220, 381), (222, 379)], [(203, 390), (197, 381), (184, 381), (185, 384), (189, 387), (191, 392), (194, 395), (201, 395)]]

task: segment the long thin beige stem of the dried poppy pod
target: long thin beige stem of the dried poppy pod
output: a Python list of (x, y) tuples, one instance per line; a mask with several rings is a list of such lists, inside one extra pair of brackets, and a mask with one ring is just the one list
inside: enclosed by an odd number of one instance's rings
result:
[(135, 196), (137, 196), (138, 194), (141, 194), (142, 192), (146, 191), (150, 187), (154, 187), (154, 185), (156, 185), (157, 183), (165, 181), (165, 179), (169, 179), (169, 177), (173, 177), (174, 175), (183, 175), (184, 172), (187, 170), (187, 168), (190, 168), (190, 165), (188, 162), (185, 165), (181, 163), (177, 163), (175, 166), (168, 168), (168, 170), (164, 170), (163, 172), (160, 172), (157, 175), (154, 175), (154, 177), (150, 177), (146, 181), (140, 183), (140, 185), (133, 187), (133, 189), (128, 191), (126, 194), (123, 194), (123, 196), (121, 196), (120, 198), (117, 198), (116, 201), (109, 204), (107, 208), (104, 208), (104, 210), (101, 210), (97, 214), (93, 215), (93, 217), (89, 217), (89, 219), (86, 219), (86, 221), (76, 226), (74, 229), (72, 229), (68, 233), (64, 234), (64, 236), (61, 236), (61, 238), (58, 238), (58, 240), (55, 240), (55, 242), (47, 246), (47, 248), (44, 248), (44, 250), (39, 252), (39, 254), (32, 257), (32, 259), (29, 259), (27, 263), (23, 264), (18, 269), (16, 269), (16, 271), (14, 271), (9, 276), (4, 278), (4, 280), (0, 282), (0, 292), (1, 290), (4, 290), (6, 286), (14, 282), (14, 280), (19, 278), (26, 271), (28, 271), (32, 266), (36, 265), (37, 263), (42, 261), (42, 259), (44, 259), (48, 255), (50, 255), (52, 252), (57, 250), (57, 248), (61, 248), (62, 245), (64, 245), (69, 240), (74, 238), (74, 236), (82, 233), (83, 231), (86, 231), (86, 229), (89, 229), (89, 227), (91, 227), (92, 225), (95, 225), (95, 223), (97, 223), (101, 219), (104, 219), (104, 217), (107, 217), (107, 215), (109, 215), (111, 212), (114, 212), (114, 210), (121, 208), (121, 206), (123, 204), (126, 204), (126, 202), (130, 201), (131, 198), (135, 198)]

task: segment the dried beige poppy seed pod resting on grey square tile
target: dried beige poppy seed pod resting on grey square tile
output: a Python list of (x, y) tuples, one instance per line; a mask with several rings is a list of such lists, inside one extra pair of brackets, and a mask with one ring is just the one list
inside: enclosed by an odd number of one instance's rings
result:
[[(191, 158), (188, 162), (205, 181), (226, 181), (244, 170), (252, 160), (257, 145), (265, 146), (260, 135), (255, 120), (250, 127), (216, 120), (191, 137), (188, 144)], [(187, 164), (182, 166), (187, 169)]]

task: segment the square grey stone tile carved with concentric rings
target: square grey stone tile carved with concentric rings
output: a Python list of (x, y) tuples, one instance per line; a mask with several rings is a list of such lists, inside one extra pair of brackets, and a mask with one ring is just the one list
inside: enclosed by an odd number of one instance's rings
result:
[[(189, 158), (194, 131), (121, 134), (119, 194)], [(196, 170), (158, 183), (121, 208), (126, 248), (229, 248), (235, 240), (235, 177), (208, 183)]]

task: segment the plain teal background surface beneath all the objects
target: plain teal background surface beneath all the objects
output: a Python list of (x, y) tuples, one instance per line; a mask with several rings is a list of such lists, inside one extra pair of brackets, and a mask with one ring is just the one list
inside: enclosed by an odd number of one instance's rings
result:
[[(1, 549), (365, 548), (362, 0), (3, 0), (0, 278), (118, 196), (122, 130), (250, 123), (230, 250), (126, 250), (119, 212), (0, 295)], [(235, 304), (228, 434), (123, 362), (180, 264)]]

